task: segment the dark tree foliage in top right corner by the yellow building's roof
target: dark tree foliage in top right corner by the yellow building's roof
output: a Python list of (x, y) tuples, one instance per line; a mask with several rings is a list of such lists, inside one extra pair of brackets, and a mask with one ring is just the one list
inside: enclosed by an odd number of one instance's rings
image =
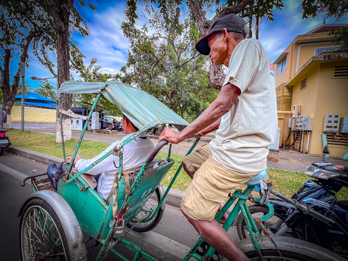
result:
[[(348, 12), (347, 0), (303, 0), (302, 1), (302, 19), (314, 18), (320, 12), (325, 12), (326, 17), (334, 16), (338, 21), (342, 15)], [(348, 50), (348, 28), (333, 29), (329, 32), (329, 36), (333, 36), (332, 42), (342, 45), (343, 50)]]

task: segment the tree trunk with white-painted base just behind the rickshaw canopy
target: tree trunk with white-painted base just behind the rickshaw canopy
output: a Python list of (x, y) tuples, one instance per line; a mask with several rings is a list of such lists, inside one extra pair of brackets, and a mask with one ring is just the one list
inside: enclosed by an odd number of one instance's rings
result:
[[(50, 0), (50, 8), (57, 34), (57, 92), (60, 86), (70, 80), (70, 46), (69, 46), (69, 19), (74, 0)], [(63, 110), (71, 109), (73, 94), (61, 94), (61, 106)], [(58, 105), (58, 104), (57, 104)], [(62, 130), (60, 125), (60, 113), (57, 106), (56, 117), (56, 142), (62, 142)], [(63, 114), (64, 141), (71, 140), (70, 117)]]

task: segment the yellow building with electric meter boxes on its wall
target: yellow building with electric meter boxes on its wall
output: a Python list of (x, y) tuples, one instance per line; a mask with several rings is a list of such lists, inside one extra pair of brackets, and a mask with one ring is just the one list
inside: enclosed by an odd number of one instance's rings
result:
[[(300, 105), (297, 115), (313, 117), (312, 131), (295, 133), (295, 149), (302, 144), (301, 151), (308, 148), (309, 154), (322, 154), (325, 114), (348, 117), (348, 52), (332, 44), (327, 34), (341, 26), (348, 24), (324, 24), (298, 35), (273, 63), (282, 145), (294, 105)], [(293, 143), (293, 135), (287, 144)], [(348, 153), (347, 134), (325, 132), (324, 143), (325, 138), (331, 156), (342, 158)]]

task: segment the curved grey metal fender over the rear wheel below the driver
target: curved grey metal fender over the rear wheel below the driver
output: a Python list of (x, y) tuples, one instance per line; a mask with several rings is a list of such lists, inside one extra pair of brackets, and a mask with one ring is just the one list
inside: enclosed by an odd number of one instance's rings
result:
[[(291, 250), (292, 252), (304, 253), (317, 260), (347, 261), (346, 259), (336, 255), (335, 253), (325, 248), (319, 247), (317, 245), (314, 245), (312, 243), (309, 243), (303, 240), (283, 237), (283, 236), (272, 236), (272, 239), (274, 240), (280, 252), (282, 252), (282, 250), (284, 252), (286, 252), (287, 250)], [(255, 251), (255, 247), (250, 238), (244, 239), (236, 244), (242, 250), (243, 253)], [(261, 251), (262, 249), (275, 249), (274, 244), (266, 236), (260, 237), (259, 246), (261, 248)]]

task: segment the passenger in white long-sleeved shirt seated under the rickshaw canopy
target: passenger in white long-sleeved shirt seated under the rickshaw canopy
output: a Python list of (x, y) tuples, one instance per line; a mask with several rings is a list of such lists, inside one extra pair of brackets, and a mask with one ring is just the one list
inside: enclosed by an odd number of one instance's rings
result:
[[(112, 150), (117, 144), (126, 140), (139, 130), (125, 115), (122, 116), (122, 123), (124, 132), (128, 134), (127, 136), (123, 137), (123, 139), (120, 141), (115, 141), (106, 150), (90, 160), (75, 158), (73, 163), (75, 165), (75, 169), (78, 171), (86, 169), (97, 159)], [(150, 153), (153, 151), (154, 147), (154, 143), (147, 138), (145, 132), (140, 134), (131, 142), (127, 143), (123, 147), (123, 169), (127, 170), (142, 166), (150, 156)], [(71, 157), (67, 157), (67, 163), (71, 163)], [(86, 172), (86, 174), (94, 175), (95, 180), (97, 181), (96, 191), (105, 200), (111, 191), (115, 174), (118, 173), (118, 168), (115, 168), (115, 165), (119, 166), (119, 157), (111, 154), (105, 160), (101, 161), (98, 165)], [(66, 172), (67, 169), (64, 163), (61, 163), (56, 170), (52, 169), (52, 164), (48, 167), (47, 175), (50, 178), (54, 188), (57, 188), (58, 179)]]

